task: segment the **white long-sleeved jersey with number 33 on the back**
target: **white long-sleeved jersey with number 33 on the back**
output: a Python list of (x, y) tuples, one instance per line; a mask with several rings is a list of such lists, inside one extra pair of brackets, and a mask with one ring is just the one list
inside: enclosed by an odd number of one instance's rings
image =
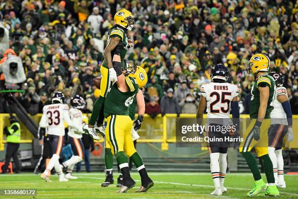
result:
[(69, 107), (67, 104), (56, 103), (45, 105), (42, 112), (39, 126), (48, 128), (47, 134), (49, 135), (64, 136), (64, 120), (69, 126), (74, 126), (69, 117)]

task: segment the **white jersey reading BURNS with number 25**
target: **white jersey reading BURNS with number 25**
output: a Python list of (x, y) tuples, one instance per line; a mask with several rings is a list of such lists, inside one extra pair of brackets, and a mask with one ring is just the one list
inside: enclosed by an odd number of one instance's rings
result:
[(201, 95), (207, 101), (207, 118), (230, 118), (230, 106), (238, 96), (238, 87), (231, 83), (205, 83), (201, 86)]

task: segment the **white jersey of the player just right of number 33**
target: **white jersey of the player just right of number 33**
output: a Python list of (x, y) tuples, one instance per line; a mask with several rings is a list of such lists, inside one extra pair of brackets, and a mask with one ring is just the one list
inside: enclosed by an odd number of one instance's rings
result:
[[(83, 133), (83, 113), (79, 109), (69, 109), (70, 119), (73, 121), (76, 128), (68, 127), (68, 135), (72, 138), (82, 138)], [(79, 130), (78, 130), (79, 129)]]

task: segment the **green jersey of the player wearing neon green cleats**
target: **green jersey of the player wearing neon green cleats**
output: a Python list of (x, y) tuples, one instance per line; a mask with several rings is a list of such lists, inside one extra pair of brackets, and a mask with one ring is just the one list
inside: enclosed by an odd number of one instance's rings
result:
[(270, 113), (273, 110), (273, 99), (275, 95), (275, 81), (269, 75), (261, 75), (255, 81), (254, 85), (251, 88), (251, 100), (250, 100), (250, 111), (249, 116), (251, 119), (258, 118), (258, 112), (260, 108), (260, 91), (258, 86), (260, 83), (265, 83), (269, 86), (269, 100), (267, 103), (266, 115), (265, 118), (270, 118)]

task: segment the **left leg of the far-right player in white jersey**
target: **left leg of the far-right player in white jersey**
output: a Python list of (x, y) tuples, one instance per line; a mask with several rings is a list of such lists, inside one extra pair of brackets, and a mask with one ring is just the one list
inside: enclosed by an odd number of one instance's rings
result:
[(279, 178), (277, 173), (278, 168), (277, 168), (277, 157), (275, 154), (275, 147), (277, 144), (276, 139), (277, 137), (279, 137), (279, 134), (280, 134), (280, 128), (282, 128), (282, 125), (273, 124), (273, 125), (270, 125), (268, 130), (268, 154), (272, 161), (273, 174), (274, 174), (274, 179), (276, 184), (278, 184)]

